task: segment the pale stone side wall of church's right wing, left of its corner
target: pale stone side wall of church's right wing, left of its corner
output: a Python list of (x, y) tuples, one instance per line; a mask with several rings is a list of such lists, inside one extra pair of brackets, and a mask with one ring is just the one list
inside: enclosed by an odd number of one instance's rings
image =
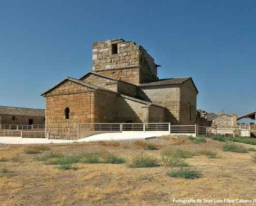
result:
[(164, 122), (171, 122), (173, 125), (179, 124), (180, 88), (177, 85), (141, 87), (137, 90), (137, 96), (167, 107), (168, 111), (165, 111)]

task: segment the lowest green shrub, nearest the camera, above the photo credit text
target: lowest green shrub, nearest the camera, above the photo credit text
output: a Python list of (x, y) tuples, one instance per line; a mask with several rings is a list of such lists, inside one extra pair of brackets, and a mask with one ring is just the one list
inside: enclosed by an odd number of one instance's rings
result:
[(178, 177), (178, 178), (185, 178), (185, 179), (195, 179), (199, 178), (201, 172), (197, 168), (191, 167), (180, 167), (177, 171), (168, 171), (167, 175), (170, 177)]

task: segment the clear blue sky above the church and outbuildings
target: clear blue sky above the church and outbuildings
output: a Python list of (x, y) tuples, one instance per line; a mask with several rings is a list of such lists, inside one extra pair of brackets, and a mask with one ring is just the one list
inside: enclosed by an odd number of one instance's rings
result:
[(256, 110), (253, 0), (0, 0), (0, 105), (44, 108), (40, 93), (92, 70), (93, 42), (116, 38), (142, 45), (159, 78), (191, 76), (198, 109)]

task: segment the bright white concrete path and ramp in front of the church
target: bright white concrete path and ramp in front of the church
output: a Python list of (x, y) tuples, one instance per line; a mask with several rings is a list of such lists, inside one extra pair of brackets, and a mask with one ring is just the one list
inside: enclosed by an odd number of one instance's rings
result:
[(0, 136), (0, 144), (45, 144), (45, 143), (72, 143), (72, 142), (89, 142), (89, 141), (125, 141), (125, 140), (146, 140), (164, 135), (162, 133), (141, 133), (141, 132), (124, 132), (124, 133), (104, 133), (88, 136), (80, 140), (47, 140), (44, 138), (20, 138)]

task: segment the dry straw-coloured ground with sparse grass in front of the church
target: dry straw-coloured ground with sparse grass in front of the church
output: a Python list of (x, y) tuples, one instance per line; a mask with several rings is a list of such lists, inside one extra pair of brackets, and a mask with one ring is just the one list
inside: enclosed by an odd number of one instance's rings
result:
[[(225, 143), (206, 139), (194, 144), (186, 136), (165, 136), (145, 140), (159, 150), (144, 150), (135, 141), (113, 144), (70, 143), (47, 144), (50, 150), (27, 154), (31, 145), (0, 144), (0, 205), (203, 205), (206, 203), (177, 203), (173, 199), (222, 201), (215, 205), (253, 205), (253, 203), (224, 203), (224, 199), (253, 200), (256, 198), (256, 163), (251, 162), (255, 152), (233, 153), (222, 151)], [(256, 146), (243, 145), (246, 148)], [(179, 179), (166, 175), (170, 167), (128, 168), (127, 164), (76, 163), (77, 170), (61, 170), (46, 165), (35, 157), (47, 153), (79, 154), (109, 151), (130, 159), (134, 154), (160, 158), (168, 148), (189, 151), (211, 150), (220, 158), (204, 155), (186, 159), (202, 175), (198, 179)], [(14, 158), (13, 158), (14, 157)], [(15, 158), (16, 157), (16, 158)], [(13, 161), (17, 160), (17, 161)], [(4, 170), (3, 170), (4, 169)], [(141, 178), (150, 177), (150, 178)], [(213, 203), (208, 203), (212, 205)], [(206, 204), (207, 205), (207, 204)]]

